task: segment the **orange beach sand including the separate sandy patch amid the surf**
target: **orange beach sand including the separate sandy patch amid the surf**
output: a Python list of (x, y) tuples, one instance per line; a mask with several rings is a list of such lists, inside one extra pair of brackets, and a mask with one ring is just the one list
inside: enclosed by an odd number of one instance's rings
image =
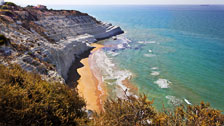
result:
[[(80, 61), (83, 67), (77, 69), (77, 73), (80, 75), (80, 78), (77, 80), (77, 89), (79, 95), (84, 98), (87, 103), (87, 110), (100, 113), (104, 110), (103, 104), (108, 98), (109, 89), (105, 87), (101, 78), (97, 76), (97, 70), (92, 69), (91, 66), (95, 64), (91, 62), (91, 56), (94, 55), (95, 51), (103, 48), (104, 45), (92, 43), (91, 46), (95, 48), (91, 51), (89, 57)], [(130, 82), (129, 78), (125, 78), (125, 80), (122, 80), (121, 83), (128, 89), (129, 93), (132, 95), (138, 95), (138, 88)], [(122, 93), (125, 92), (126, 91)]]

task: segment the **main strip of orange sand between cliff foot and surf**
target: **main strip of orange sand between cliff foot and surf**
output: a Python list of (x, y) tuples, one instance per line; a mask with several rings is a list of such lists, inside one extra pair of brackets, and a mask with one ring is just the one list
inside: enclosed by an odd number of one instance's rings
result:
[[(96, 43), (93, 43), (91, 45), (96, 47), (91, 51), (91, 53), (94, 53), (94, 51), (103, 47), (103, 45)], [(99, 113), (103, 108), (100, 102), (101, 91), (97, 88), (99, 84), (98, 80), (90, 69), (89, 58), (81, 60), (81, 63), (84, 65), (84, 67), (77, 70), (79, 75), (81, 76), (81, 78), (78, 80), (77, 86), (79, 95), (85, 99), (87, 103), (87, 109)]]

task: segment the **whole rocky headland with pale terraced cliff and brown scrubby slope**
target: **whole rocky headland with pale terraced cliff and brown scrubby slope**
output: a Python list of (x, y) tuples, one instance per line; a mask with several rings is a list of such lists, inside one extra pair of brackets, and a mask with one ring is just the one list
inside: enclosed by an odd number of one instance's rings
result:
[(64, 82), (73, 62), (92, 48), (90, 43), (123, 33), (79, 11), (0, 8), (0, 34), (10, 39), (0, 46), (0, 62), (17, 63), (45, 79)]

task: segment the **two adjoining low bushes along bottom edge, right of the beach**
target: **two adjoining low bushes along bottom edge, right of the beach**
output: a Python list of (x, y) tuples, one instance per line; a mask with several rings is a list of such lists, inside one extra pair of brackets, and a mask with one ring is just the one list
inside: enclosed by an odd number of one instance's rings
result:
[(139, 99), (127, 96), (127, 99), (108, 100), (105, 112), (95, 114), (91, 125), (94, 126), (222, 126), (224, 115), (204, 104), (180, 106), (174, 111), (158, 112), (146, 96)]

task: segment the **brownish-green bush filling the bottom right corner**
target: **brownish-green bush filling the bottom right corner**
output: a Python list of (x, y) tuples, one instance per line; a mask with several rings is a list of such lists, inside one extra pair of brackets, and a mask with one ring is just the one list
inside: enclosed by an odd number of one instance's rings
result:
[(164, 112), (166, 125), (173, 126), (223, 126), (224, 115), (209, 104), (176, 107), (174, 112)]

